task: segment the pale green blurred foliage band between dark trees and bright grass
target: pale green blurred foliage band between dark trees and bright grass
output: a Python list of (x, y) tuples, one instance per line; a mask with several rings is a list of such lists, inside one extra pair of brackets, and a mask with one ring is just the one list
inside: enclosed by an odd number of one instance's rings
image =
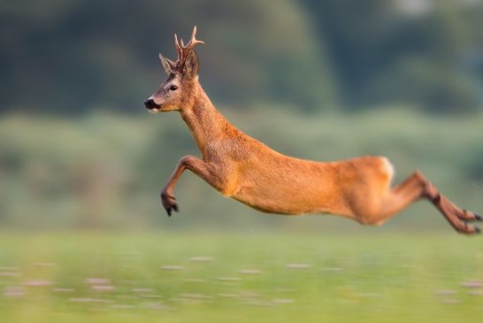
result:
[[(321, 161), (384, 155), (397, 181), (420, 169), (457, 204), (483, 210), (481, 118), (434, 119), (390, 107), (310, 118), (289, 113), (294, 107), (278, 109), (220, 107), (235, 126), (284, 154)], [(12, 115), (0, 120), (0, 146), (2, 227), (357, 227), (346, 219), (264, 216), (189, 172), (175, 192), (181, 212), (168, 219), (159, 192), (182, 156), (198, 156), (176, 113)], [(418, 206), (387, 226), (450, 229), (429, 205)], [(419, 217), (421, 210), (428, 216)]]

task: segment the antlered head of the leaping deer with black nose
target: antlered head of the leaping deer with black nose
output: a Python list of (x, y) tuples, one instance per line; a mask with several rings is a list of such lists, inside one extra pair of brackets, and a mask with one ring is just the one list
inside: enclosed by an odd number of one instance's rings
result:
[(196, 39), (196, 26), (193, 28), (191, 39), (185, 45), (181, 38), (174, 34), (174, 45), (178, 52), (176, 61), (165, 58), (159, 54), (161, 63), (168, 74), (167, 80), (161, 84), (157, 91), (144, 101), (149, 112), (169, 112), (181, 110), (196, 95), (198, 82), (198, 57), (195, 46), (204, 43)]

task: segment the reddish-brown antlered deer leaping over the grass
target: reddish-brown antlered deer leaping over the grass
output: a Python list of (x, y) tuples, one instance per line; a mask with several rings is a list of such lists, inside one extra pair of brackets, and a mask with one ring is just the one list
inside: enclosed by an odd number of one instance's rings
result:
[(417, 171), (392, 186), (395, 168), (388, 158), (363, 156), (318, 162), (289, 157), (245, 135), (217, 110), (199, 81), (196, 27), (185, 45), (174, 34), (178, 58), (159, 54), (168, 74), (144, 102), (149, 112), (179, 112), (201, 158), (180, 158), (161, 192), (168, 216), (179, 211), (173, 190), (189, 170), (215, 188), (249, 207), (266, 213), (333, 214), (362, 225), (380, 226), (414, 202), (426, 199), (457, 233), (479, 234), (482, 218), (453, 204), (423, 173)]

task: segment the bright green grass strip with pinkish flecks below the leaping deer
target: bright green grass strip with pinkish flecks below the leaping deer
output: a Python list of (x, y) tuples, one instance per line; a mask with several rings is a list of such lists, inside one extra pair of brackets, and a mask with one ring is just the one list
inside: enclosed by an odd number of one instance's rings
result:
[(480, 322), (479, 237), (0, 235), (0, 321)]

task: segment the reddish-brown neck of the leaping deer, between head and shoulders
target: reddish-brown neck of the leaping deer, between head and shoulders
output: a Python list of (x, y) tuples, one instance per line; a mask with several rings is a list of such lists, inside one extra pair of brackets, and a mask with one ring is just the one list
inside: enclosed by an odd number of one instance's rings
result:
[(203, 157), (207, 143), (219, 142), (235, 131), (201, 87), (197, 95), (188, 103), (188, 108), (182, 109), (180, 114)]

